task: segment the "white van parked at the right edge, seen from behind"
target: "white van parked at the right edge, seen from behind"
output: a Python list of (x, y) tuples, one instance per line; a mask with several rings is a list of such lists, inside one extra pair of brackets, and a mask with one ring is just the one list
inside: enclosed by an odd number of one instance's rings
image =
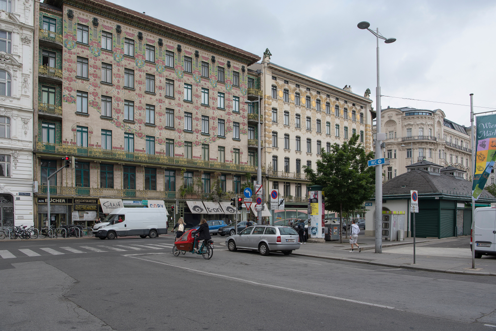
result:
[(475, 242), (475, 257), (496, 255), (496, 207), (475, 209), (475, 229), (470, 237), (470, 249)]

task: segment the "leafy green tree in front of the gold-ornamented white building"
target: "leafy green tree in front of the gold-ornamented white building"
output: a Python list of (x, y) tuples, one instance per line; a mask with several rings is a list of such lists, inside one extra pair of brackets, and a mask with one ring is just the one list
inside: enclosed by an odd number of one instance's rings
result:
[[(339, 210), (340, 228), (343, 227), (343, 210), (360, 209), (374, 194), (375, 169), (367, 166), (373, 153), (365, 152), (359, 138), (359, 135), (354, 134), (342, 145), (335, 143), (329, 153), (322, 148), (316, 170), (305, 167), (310, 185), (323, 187), (325, 208)], [(342, 242), (342, 235), (340, 240)]]

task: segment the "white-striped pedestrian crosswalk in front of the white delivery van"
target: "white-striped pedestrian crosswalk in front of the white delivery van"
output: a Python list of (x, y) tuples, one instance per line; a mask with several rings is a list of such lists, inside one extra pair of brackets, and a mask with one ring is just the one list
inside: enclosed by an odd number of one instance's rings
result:
[(84, 245), (84, 246), (64, 246), (64, 247), (31, 247), (29, 249), (0, 250), (0, 260), (15, 259), (25, 257), (39, 257), (64, 254), (84, 254), (84, 253), (105, 253), (105, 252), (134, 252), (134, 251), (168, 251), (174, 247), (173, 243), (162, 244), (128, 244), (128, 245)]

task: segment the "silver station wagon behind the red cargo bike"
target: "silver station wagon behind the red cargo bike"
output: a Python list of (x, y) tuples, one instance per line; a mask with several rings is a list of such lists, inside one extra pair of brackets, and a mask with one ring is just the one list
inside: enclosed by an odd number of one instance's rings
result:
[(238, 234), (226, 238), (227, 248), (231, 252), (247, 249), (269, 255), (270, 252), (280, 251), (290, 255), (300, 248), (298, 233), (289, 226), (255, 225), (246, 228)]

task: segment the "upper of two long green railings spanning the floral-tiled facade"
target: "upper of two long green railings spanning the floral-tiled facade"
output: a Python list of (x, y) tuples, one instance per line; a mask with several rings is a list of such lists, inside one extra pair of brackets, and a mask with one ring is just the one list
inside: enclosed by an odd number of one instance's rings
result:
[[(38, 142), (38, 152), (54, 153), (61, 155), (85, 156), (98, 159), (110, 159), (128, 162), (146, 162), (159, 165), (171, 165), (180, 167), (197, 167), (218, 170), (231, 170), (242, 172), (256, 172), (256, 166), (248, 164), (236, 164), (217, 161), (204, 161), (197, 159), (187, 159), (184, 157), (171, 157), (160, 154), (146, 154), (144, 152), (128, 152), (123, 149), (102, 149), (95, 147), (83, 147), (70, 144), (53, 144)], [(262, 167), (262, 172), (264, 168)]]

